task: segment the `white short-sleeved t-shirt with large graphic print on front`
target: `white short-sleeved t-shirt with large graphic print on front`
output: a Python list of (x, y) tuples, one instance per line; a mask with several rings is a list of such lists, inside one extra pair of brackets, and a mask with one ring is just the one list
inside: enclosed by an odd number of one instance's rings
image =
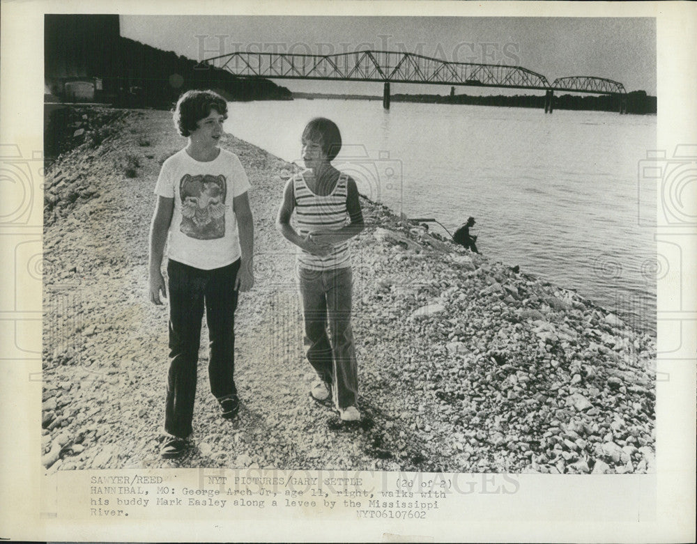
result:
[(155, 194), (174, 198), (167, 256), (212, 270), (240, 258), (240, 238), (232, 199), (250, 188), (237, 155), (221, 149), (208, 162), (181, 150), (162, 164)]

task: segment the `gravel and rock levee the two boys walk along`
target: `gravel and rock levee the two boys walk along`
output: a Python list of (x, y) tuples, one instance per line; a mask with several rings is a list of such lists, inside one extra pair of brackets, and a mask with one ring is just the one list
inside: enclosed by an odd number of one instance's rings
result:
[[(237, 311), (236, 421), (199, 361), (195, 440), (160, 459), (166, 306), (146, 297), (166, 111), (131, 111), (45, 178), (43, 463), (58, 469), (273, 467), (653, 472), (655, 341), (576, 293), (363, 201), (353, 242), (360, 423), (308, 396), (293, 247), (274, 228), (292, 166), (227, 137), (252, 183), (256, 286)], [(135, 177), (128, 177), (134, 176)], [(205, 333), (204, 333), (205, 334)]]

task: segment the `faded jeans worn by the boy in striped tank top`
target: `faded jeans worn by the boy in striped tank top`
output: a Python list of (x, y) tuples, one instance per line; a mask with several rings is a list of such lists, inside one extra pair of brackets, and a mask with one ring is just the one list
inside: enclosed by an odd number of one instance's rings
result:
[[(305, 355), (337, 408), (355, 406), (358, 366), (351, 330), (351, 268), (308, 270), (298, 267), (305, 322)], [(329, 330), (328, 330), (329, 329)]]

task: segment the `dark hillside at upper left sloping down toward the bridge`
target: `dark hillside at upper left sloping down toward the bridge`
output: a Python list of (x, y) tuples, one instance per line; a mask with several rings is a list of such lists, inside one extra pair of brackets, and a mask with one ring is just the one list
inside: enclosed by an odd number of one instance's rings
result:
[(192, 88), (210, 88), (227, 100), (289, 100), (268, 79), (225, 70), (123, 38), (118, 15), (45, 15), (47, 100), (103, 102), (123, 107), (171, 107)]

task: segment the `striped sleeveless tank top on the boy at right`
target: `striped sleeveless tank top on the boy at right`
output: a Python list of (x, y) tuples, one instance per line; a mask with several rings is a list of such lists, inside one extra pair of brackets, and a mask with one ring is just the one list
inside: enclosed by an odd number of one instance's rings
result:
[[(305, 237), (310, 233), (339, 230), (349, 222), (346, 210), (348, 176), (341, 173), (334, 190), (319, 196), (310, 191), (302, 173), (293, 177), (293, 194), (296, 199), (296, 224), (298, 234)], [(298, 265), (309, 270), (334, 270), (351, 266), (348, 240), (334, 246), (326, 256), (313, 255), (298, 247)]]

